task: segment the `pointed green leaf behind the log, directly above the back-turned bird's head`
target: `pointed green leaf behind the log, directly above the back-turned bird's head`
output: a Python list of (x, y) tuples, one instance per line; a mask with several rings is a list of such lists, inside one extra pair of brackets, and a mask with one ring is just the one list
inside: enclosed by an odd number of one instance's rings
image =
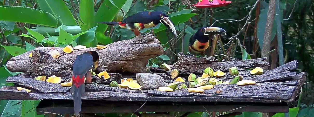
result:
[(73, 39), (75, 39), (75, 42), (78, 45), (85, 45), (87, 43), (92, 42), (95, 38), (96, 27), (97, 26), (87, 30), (88, 32), (86, 31), (85, 33), (79, 33), (79, 34), (73, 36)]

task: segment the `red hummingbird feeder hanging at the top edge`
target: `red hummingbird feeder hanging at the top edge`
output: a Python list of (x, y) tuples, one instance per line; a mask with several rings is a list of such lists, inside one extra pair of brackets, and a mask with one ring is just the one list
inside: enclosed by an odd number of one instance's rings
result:
[(222, 7), (231, 3), (231, 1), (225, 0), (199, 0), (198, 3), (192, 4), (198, 8), (210, 8), (210, 7)]

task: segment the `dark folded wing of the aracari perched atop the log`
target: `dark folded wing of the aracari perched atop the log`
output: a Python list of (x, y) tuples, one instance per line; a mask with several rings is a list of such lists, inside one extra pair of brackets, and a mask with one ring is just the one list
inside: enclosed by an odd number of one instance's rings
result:
[(153, 21), (151, 15), (149, 15), (148, 11), (143, 11), (137, 14), (133, 14), (128, 16), (126, 19), (122, 21), (122, 23), (143, 23), (148, 24)]

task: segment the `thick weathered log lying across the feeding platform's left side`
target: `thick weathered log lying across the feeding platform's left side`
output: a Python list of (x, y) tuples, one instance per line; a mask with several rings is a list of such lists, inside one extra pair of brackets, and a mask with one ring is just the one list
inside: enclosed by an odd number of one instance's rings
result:
[[(49, 52), (57, 50), (61, 56), (52, 58)], [(114, 42), (107, 48), (99, 50), (96, 47), (74, 50), (68, 54), (62, 51), (62, 47), (38, 47), (29, 53), (24, 53), (11, 58), (7, 64), (8, 70), (12, 72), (27, 71), (30, 77), (38, 75), (68, 76), (72, 74), (72, 64), (78, 54), (86, 51), (96, 51), (99, 54), (97, 70), (109, 70), (110, 72), (128, 71), (132, 73), (145, 72), (145, 66), (149, 58), (164, 53), (163, 47), (154, 34), (137, 36), (130, 40)]]

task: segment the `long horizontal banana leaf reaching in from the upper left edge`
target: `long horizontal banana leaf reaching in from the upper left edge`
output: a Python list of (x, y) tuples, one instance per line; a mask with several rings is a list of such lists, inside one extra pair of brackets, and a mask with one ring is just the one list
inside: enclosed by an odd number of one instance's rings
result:
[(29, 7), (0, 6), (0, 20), (39, 24), (51, 27), (57, 27), (62, 24), (62, 22), (58, 21), (52, 14)]

